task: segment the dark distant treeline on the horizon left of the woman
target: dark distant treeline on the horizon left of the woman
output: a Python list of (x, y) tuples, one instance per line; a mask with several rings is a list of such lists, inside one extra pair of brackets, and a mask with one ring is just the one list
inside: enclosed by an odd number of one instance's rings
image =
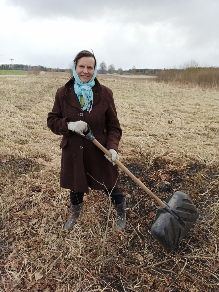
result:
[[(59, 69), (59, 68), (48, 68), (44, 66), (35, 66), (35, 65), (24, 65), (24, 64), (13, 64), (13, 70), (25, 70), (25, 71), (33, 71), (38, 69), (38, 71), (45, 72), (67, 72), (68, 69)], [(0, 70), (12, 70), (11, 64), (0, 64)]]

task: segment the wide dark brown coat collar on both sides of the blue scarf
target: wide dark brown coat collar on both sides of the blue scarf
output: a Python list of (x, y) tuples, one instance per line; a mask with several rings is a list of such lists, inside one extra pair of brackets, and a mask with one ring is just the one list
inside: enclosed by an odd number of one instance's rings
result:
[[(97, 78), (94, 79), (95, 85), (92, 87), (93, 91), (93, 106), (96, 105), (101, 100), (101, 95), (96, 93), (96, 91), (101, 87), (99, 81)], [(80, 102), (78, 100), (78, 96), (76, 95), (74, 91), (74, 78), (70, 79), (66, 84), (65, 87), (68, 89), (66, 94), (63, 95), (63, 98), (66, 102), (68, 102), (70, 105), (77, 107), (81, 110)]]

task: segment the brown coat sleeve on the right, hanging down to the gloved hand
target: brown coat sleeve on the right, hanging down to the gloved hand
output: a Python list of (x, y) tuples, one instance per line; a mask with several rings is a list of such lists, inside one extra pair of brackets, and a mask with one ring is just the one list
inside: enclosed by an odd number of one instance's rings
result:
[(115, 103), (113, 100), (113, 92), (110, 91), (108, 109), (106, 111), (106, 125), (107, 125), (107, 140), (106, 149), (114, 149), (118, 153), (119, 141), (122, 137), (122, 129), (117, 117)]

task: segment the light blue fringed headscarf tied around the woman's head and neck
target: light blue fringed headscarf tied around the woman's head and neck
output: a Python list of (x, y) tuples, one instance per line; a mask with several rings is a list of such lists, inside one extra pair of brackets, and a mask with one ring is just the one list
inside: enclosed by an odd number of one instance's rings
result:
[(87, 83), (82, 82), (80, 78), (78, 77), (78, 74), (76, 72), (75, 62), (73, 62), (72, 70), (73, 70), (73, 76), (75, 79), (75, 93), (78, 95), (78, 100), (80, 103), (81, 103), (81, 95), (83, 95), (83, 98), (85, 101), (85, 104), (83, 105), (81, 110), (84, 111), (85, 109), (87, 109), (87, 111), (90, 112), (92, 110), (92, 105), (93, 105), (93, 91), (91, 87), (93, 87), (95, 84), (94, 78), (96, 77), (96, 74), (97, 74), (97, 65), (94, 68), (94, 75), (92, 76), (90, 81)]

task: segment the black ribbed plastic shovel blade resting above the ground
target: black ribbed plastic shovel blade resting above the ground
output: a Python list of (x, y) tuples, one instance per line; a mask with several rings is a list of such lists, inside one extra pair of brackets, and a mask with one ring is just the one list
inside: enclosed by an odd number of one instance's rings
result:
[(189, 232), (198, 219), (199, 213), (187, 194), (183, 192), (173, 193), (164, 200), (164, 203), (168, 204), (178, 219), (159, 207), (151, 227), (151, 234), (169, 253)]

